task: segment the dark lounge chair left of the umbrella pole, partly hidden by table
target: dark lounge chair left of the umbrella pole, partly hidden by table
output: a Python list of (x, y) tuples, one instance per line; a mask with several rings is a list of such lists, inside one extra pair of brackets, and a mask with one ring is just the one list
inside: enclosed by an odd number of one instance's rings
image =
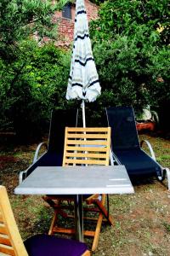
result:
[[(40, 143), (37, 146), (32, 165), (26, 171), (20, 172), (20, 182), (28, 177), (37, 166), (62, 166), (65, 126), (77, 126), (77, 109), (58, 109), (52, 112), (48, 145), (46, 143)], [(47, 150), (38, 157), (40, 148), (42, 147), (47, 148)]]

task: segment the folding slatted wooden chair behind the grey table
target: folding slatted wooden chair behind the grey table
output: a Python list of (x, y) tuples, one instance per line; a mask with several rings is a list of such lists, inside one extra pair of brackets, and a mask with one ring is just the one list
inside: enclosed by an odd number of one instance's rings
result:
[[(111, 128), (65, 128), (65, 148), (63, 157), (63, 166), (109, 166), (110, 164), (110, 147), (111, 147)], [(51, 197), (50, 197), (51, 199)], [(61, 212), (61, 204), (63, 201), (72, 201), (70, 195), (59, 196), (54, 195), (54, 202), (49, 204), (54, 207), (54, 218), (52, 220), (49, 233), (66, 233), (74, 234), (74, 229), (59, 227), (59, 214), (68, 218), (66, 213)], [(97, 212), (98, 218), (89, 218), (96, 220), (97, 225), (94, 231), (84, 230), (84, 236), (94, 237), (92, 251), (98, 245), (99, 232), (102, 221), (105, 220), (113, 225), (113, 220), (105, 209), (106, 195), (85, 195), (82, 198), (88, 205), (94, 204), (95, 208), (88, 207), (88, 211)], [(57, 201), (56, 201), (57, 200)], [(46, 198), (48, 201), (48, 197)]]

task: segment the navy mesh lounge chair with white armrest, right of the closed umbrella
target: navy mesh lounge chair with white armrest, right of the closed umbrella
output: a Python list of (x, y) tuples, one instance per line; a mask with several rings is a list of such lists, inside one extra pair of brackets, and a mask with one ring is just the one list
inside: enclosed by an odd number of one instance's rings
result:
[[(106, 114), (108, 124), (111, 126), (111, 148), (116, 164), (125, 165), (129, 177), (156, 176), (162, 180), (167, 172), (168, 178), (169, 170), (157, 163), (150, 143), (148, 141), (139, 143), (133, 108), (106, 108)], [(151, 156), (141, 148), (143, 143), (150, 148)]]

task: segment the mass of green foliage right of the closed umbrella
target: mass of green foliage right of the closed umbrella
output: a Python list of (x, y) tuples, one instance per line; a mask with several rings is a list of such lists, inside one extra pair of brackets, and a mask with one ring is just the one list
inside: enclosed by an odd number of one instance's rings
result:
[(90, 32), (105, 105), (169, 104), (168, 6), (167, 0), (100, 4)]

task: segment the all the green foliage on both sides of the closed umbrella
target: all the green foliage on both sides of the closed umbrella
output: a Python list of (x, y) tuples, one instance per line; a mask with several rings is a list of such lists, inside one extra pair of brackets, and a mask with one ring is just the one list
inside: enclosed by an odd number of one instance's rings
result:
[[(11, 128), (26, 138), (28, 131), (40, 131), (52, 108), (77, 104), (65, 102), (71, 53), (52, 40), (43, 45), (32, 39), (35, 33), (40, 42), (44, 36), (56, 38), (53, 14), (66, 2), (1, 0), (0, 131)], [(99, 19), (91, 22), (90, 33), (102, 94), (88, 103), (88, 125), (94, 117), (103, 122), (101, 109), (113, 105), (133, 105), (135, 110), (150, 105), (166, 119), (168, 1), (94, 2), (99, 3)]]

